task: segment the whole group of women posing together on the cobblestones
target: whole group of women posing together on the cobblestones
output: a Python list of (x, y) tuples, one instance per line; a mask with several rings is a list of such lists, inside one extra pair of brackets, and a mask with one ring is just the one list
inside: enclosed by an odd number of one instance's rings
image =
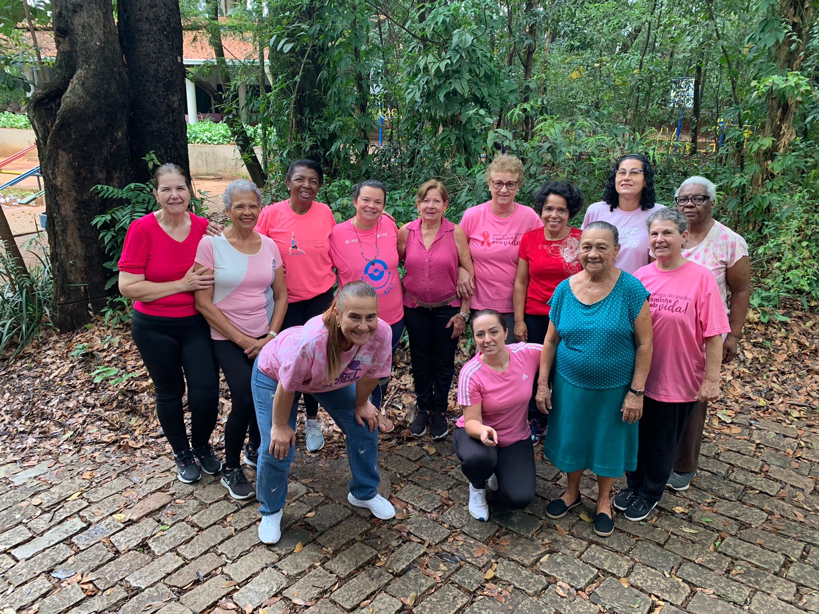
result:
[[(683, 213), (654, 203), (643, 156), (618, 160), (582, 233), (568, 226), (583, 205), (576, 187), (546, 183), (532, 210), (515, 201), (523, 177), (516, 157), (496, 157), (486, 169), (491, 200), (459, 225), (444, 217), (446, 187), (424, 183), (419, 218), (397, 228), (373, 180), (355, 186), (354, 217), (336, 223), (314, 201), (319, 165), (296, 160), (291, 197), (264, 209), (253, 183), (231, 183), (222, 228), (188, 211), (182, 169), (157, 169), (160, 208), (129, 228), (120, 291), (136, 301), (133, 338), (179, 479), (221, 472), (234, 498), (256, 494), (260, 539), (278, 541), (303, 395), (307, 449), (324, 445), (321, 403), (346, 436), (350, 503), (394, 516), (377, 465), (378, 431), (393, 427), (381, 411), (392, 350), (406, 327), (417, 395), (410, 434), (445, 437), (471, 314), (478, 351), (459, 374), (453, 443), (473, 517), (489, 517), (487, 487), (515, 508), (532, 501), (533, 444), (544, 431), (546, 455), (568, 473), (550, 517), (580, 503), (585, 469), (598, 476), (600, 535), (613, 530), (612, 504), (636, 520), (667, 483), (687, 488), (719, 363), (733, 358), (748, 306), (747, 247), (711, 217), (707, 179), (680, 187)], [(224, 466), (210, 447), (218, 368), (232, 401)], [(257, 467), (256, 487), (240, 456)], [(628, 487), (612, 503), (623, 472)]]

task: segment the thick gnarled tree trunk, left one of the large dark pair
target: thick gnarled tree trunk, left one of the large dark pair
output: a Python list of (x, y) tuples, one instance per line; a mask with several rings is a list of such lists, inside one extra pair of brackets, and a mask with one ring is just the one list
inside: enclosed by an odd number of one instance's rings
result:
[(129, 183), (130, 96), (111, 0), (60, 0), (52, 7), (57, 62), (31, 97), (29, 119), (48, 188), (53, 322), (74, 330), (106, 305), (108, 259), (91, 220), (110, 203), (90, 190)]

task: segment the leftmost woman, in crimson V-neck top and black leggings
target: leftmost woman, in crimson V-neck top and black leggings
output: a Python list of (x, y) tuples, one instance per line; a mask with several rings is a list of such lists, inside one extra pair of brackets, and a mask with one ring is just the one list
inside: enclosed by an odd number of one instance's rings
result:
[[(120, 257), (120, 292), (133, 299), (131, 335), (154, 384), (156, 417), (174, 449), (177, 476), (190, 483), (222, 463), (210, 449), (219, 403), (219, 372), (210, 327), (197, 313), (193, 292), (213, 286), (213, 274), (193, 270), (207, 220), (188, 211), (191, 183), (183, 169), (161, 165), (154, 173), (160, 209), (128, 228)], [(182, 396), (188, 383), (191, 439)]]

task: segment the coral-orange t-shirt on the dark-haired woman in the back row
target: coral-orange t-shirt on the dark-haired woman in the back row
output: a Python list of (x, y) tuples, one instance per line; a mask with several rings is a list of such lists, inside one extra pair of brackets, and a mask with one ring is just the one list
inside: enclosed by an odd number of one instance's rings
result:
[(313, 201), (304, 215), (290, 208), (290, 201), (274, 202), (259, 214), (256, 232), (276, 242), (287, 273), (287, 302), (311, 299), (336, 282), (330, 260), (330, 233), (336, 225), (333, 211)]

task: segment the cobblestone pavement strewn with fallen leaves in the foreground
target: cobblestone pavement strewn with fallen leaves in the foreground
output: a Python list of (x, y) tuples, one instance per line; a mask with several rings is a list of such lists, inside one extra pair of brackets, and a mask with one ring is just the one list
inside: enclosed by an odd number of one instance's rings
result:
[[(593, 499), (559, 521), (561, 476), (538, 463), (523, 512), (473, 521), (449, 440), (382, 453), (378, 521), (346, 502), (346, 458), (299, 454), (283, 538), (265, 547), (256, 501), (216, 478), (186, 485), (170, 458), (99, 454), (0, 467), (0, 608), (38, 614), (355, 612), (592, 614), (819, 611), (819, 436), (737, 421), (709, 435), (704, 470), (646, 521), (594, 534)], [(299, 441), (300, 450), (303, 442)], [(584, 495), (595, 496), (591, 476)], [(369, 513), (369, 512), (368, 512)]]

